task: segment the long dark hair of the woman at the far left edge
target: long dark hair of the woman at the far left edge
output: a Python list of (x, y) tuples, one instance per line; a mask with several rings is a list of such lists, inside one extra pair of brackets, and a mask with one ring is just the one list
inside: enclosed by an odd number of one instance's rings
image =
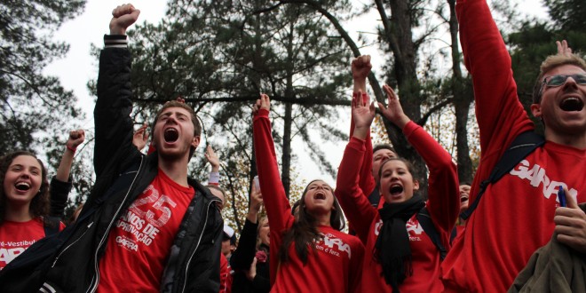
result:
[(4, 190), (4, 178), (6, 177), (6, 171), (8, 171), (8, 167), (10, 167), (12, 161), (14, 161), (14, 159), (20, 155), (32, 156), (41, 165), (41, 189), (39, 190), (39, 193), (33, 197), (28, 210), (33, 215), (33, 217), (36, 218), (47, 216), (49, 214), (49, 210), (51, 209), (51, 202), (49, 197), (49, 180), (47, 180), (47, 169), (44, 168), (43, 162), (41, 162), (41, 160), (39, 160), (35, 154), (27, 151), (17, 151), (10, 154), (5, 154), (0, 158), (0, 186), (2, 186), (2, 188), (0, 188), (0, 224), (4, 223), (4, 216), (6, 215), (7, 202)]

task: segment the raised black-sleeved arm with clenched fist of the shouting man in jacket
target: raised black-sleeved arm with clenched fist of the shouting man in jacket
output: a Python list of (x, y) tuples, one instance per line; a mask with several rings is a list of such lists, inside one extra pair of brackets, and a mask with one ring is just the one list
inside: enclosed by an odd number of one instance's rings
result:
[(94, 108), (96, 139), (94, 170), (101, 175), (121, 147), (131, 147), (131, 54), (126, 48), (126, 28), (139, 18), (131, 4), (116, 7), (110, 20), (110, 35), (99, 56), (98, 99)]

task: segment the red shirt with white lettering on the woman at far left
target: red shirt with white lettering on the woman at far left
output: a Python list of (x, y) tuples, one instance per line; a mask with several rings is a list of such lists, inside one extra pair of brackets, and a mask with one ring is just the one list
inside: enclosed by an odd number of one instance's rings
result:
[[(65, 225), (60, 223), (59, 230)], [(0, 225), (0, 270), (36, 241), (44, 238), (43, 218), (27, 222), (4, 221)]]

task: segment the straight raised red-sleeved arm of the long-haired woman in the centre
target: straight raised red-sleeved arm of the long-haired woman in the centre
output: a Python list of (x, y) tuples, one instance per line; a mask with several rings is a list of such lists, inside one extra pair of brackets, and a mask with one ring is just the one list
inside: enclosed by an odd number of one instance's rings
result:
[[(270, 99), (262, 94), (254, 105), (253, 136), (255, 154), (257, 157), (258, 182), (265, 202), (266, 215), (271, 227), (271, 241), (273, 236), (281, 235), (293, 224), (291, 206), (283, 188), (277, 157), (274, 152), (271, 122), (268, 114)], [(271, 245), (273, 247), (273, 243)]]

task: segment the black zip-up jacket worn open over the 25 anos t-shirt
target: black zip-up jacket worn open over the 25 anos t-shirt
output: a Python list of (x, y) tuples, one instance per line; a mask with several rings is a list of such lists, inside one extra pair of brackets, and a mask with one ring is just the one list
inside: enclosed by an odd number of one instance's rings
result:
[[(93, 292), (98, 288), (99, 259), (107, 253), (110, 229), (158, 172), (156, 152), (144, 155), (131, 144), (131, 109), (131, 54), (126, 48), (106, 48), (99, 59), (94, 110), (96, 184), (74, 231), (54, 255), (44, 289)], [(161, 291), (218, 292), (223, 227), (219, 199), (197, 181), (188, 182), (195, 196), (171, 246)]]

